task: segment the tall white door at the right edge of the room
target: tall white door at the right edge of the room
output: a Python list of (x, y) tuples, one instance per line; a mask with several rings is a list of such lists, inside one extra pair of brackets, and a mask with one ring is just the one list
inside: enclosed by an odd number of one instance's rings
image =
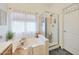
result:
[(64, 15), (64, 48), (79, 54), (79, 10)]

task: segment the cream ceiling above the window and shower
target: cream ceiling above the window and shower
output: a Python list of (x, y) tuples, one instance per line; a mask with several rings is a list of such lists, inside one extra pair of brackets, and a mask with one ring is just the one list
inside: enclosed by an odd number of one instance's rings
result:
[(70, 5), (70, 3), (9, 3), (8, 10), (22, 12), (45, 12), (61, 10)]

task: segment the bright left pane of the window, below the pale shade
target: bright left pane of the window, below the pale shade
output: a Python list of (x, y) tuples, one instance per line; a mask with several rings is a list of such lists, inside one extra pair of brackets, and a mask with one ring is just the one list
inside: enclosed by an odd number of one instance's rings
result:
[(24, 32), (24, 22), (22, 21), (12, 21), (12, 32), (22, 33)]

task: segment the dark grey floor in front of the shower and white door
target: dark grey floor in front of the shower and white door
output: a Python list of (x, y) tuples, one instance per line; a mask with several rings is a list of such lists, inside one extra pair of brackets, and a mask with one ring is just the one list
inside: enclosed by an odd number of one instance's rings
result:
[(49, 51), (49, 54), (50, 55), (72, 55), (71, 53), (69, 53), (65, 49), (61, 49), (61, 48), (51, 50), (51, 51)]

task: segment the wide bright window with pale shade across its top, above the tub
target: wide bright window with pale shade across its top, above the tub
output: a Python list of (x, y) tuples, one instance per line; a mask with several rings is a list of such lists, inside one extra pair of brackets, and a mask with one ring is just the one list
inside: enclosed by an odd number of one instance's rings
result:
[(11, 30), (14, 33), (36, 33), (36, 16), (27, 15), (23, 13), (12, 13), (11, 14)]

